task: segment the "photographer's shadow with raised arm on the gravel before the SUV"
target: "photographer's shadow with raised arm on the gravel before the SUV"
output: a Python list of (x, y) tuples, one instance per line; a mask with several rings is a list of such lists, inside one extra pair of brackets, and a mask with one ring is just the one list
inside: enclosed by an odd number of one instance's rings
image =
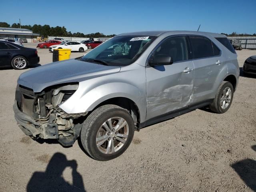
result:
[[(66, 167), (72, 168), (73, 183), (66, 182), (62, 176)], [(45, 172), (34, 172), (27, 185), (28, 192), (86, 192), (82, 176), (77, 172), (76, 160), (68, 161), (62, 153), (55, 153)]]

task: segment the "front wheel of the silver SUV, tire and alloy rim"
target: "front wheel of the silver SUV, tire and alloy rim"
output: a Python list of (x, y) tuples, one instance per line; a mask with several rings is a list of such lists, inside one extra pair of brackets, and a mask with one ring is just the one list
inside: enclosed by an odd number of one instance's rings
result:
[(92, 158), (107, 161), (124, 153), (133, 135), (134, 121), (130, 113), (116, 105), (104, 105), (86, 118), (80, 139)]

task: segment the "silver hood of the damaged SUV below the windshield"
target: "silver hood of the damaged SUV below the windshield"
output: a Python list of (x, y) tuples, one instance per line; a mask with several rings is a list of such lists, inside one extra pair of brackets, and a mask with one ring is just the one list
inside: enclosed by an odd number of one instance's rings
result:
[(76, 59), (46, 64), (24, 72), (18, 84), (41, 92), (44, 88), (68, 82), (80, 82), (98, 76), (117, 73), (119, 66), (105, 66)]

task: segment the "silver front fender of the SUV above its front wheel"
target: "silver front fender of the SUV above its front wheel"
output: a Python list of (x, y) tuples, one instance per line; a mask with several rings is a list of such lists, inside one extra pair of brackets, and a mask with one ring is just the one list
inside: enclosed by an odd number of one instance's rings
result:
[(124, 97), (138, 106), (143, 121), (146, 118), (146, 80), (140, 72), (145, 73), (145, 68), (79, 82), (78, 90), (59, 107), (68, 114), (83, 113), (110, 98)]

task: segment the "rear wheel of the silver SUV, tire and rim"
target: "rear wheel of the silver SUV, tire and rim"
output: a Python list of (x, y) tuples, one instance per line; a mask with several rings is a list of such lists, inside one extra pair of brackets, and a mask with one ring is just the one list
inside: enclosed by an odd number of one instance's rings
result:
[(229, 108), (233, 100), (234, 88), (230, 82), (224, 81), (218, 88), (217, 94), (210, 109), (216, 113), (225, 113)]

